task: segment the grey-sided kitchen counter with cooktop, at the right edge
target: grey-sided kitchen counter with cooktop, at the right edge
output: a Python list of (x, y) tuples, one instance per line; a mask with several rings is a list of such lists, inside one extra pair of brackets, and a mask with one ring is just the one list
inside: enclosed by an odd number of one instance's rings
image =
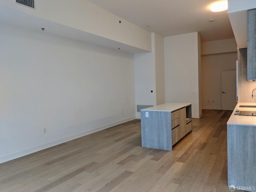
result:
[[(228, 186), (256, 191), (256, 103), (239, 102), (227, 122)], [(255, 112), (255, 113), (254, 113)]]

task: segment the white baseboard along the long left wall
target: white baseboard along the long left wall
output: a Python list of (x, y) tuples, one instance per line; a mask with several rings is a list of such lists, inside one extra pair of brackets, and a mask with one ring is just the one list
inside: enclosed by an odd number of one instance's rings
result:
[(98, 127), (98, 128), (92, 129), (92, 130), (88, 130), (88, 131), (85, 131), (85, 132), (82, 132), (82, 133), (74, 134), (72, 136), (61, 138), (61, 139), (58, 139), (58, 140), (55, 140), (55, 141), (52, 141), (52, 142), (48, 142), (48, 143), (45, 143), (45, 144), (42, 144), (42, 145), (34, 146), (34, 147), (31, 147), (31, 148), (27, 148), (27, 149), (24, 149), (24, 150), (20, 150), (18, 152), (14, 152), (14, 153), (5, 155), (5, 156), (1, 156), (0, 157), (0, 164), (4, 163), (4, 162), (7, 162), (7, 161), (10, 161), (10, 160), (14, 160), (16, 158), (20, 158), (20, 157), (32, 154), (34, 152), (38, 152), (38, 151), (41, 151), (41, 150), (44, 150), (44, 149), (47, 149), (47, 148), (50, 148), (50, 147), (68, 142), (68, 141), (71, 141), (71, 140), (74, 140), (74, 139), (77, 139), (77, 138), (80, 138), (80, 137), (83, 137), (83, 136), (86, 136), (86, 135), (89, 135), (89, 134), (92, 134), (92, 133), (95, 133), (95, 132), (98, 132), (98, 131), (101, 131), (101, 130), (104, 130), (104, 129), (107, 129), (107, 128), (110, 128), (112, 126), (116, 126), (116, 125), (128, 122), (130, 120), (134, 120), (134, 119), (136, 119), (135, 116), (131, 117), (131, 118), (128, 118), (128, 119), (124, 119), (124, 120), (119, 121), (119, 122), (109, 124), (109, 125), (105, 125), (105, 126)]

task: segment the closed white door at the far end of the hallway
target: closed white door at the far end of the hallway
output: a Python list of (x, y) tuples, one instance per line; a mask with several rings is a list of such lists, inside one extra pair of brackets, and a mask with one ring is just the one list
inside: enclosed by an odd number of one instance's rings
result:
[(236, 106), (236, 70), (221, 72), (222, 110), (234, 110)]

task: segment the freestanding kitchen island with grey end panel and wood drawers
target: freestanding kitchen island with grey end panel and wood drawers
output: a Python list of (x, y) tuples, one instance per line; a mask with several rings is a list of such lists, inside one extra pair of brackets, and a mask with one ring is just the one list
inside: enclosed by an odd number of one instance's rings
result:
[(171, 151), (192, 130), (191, 103), (165, 103), (140, 113), (142, 147)]

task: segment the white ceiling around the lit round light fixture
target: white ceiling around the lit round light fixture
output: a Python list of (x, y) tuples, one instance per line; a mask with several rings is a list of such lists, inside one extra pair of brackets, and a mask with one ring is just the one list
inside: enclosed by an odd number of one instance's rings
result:
[(201, 42), (234, 38), (227, 10), (210, 11), (215, 0), (88, 1), (164, 37), (198, 31)]

